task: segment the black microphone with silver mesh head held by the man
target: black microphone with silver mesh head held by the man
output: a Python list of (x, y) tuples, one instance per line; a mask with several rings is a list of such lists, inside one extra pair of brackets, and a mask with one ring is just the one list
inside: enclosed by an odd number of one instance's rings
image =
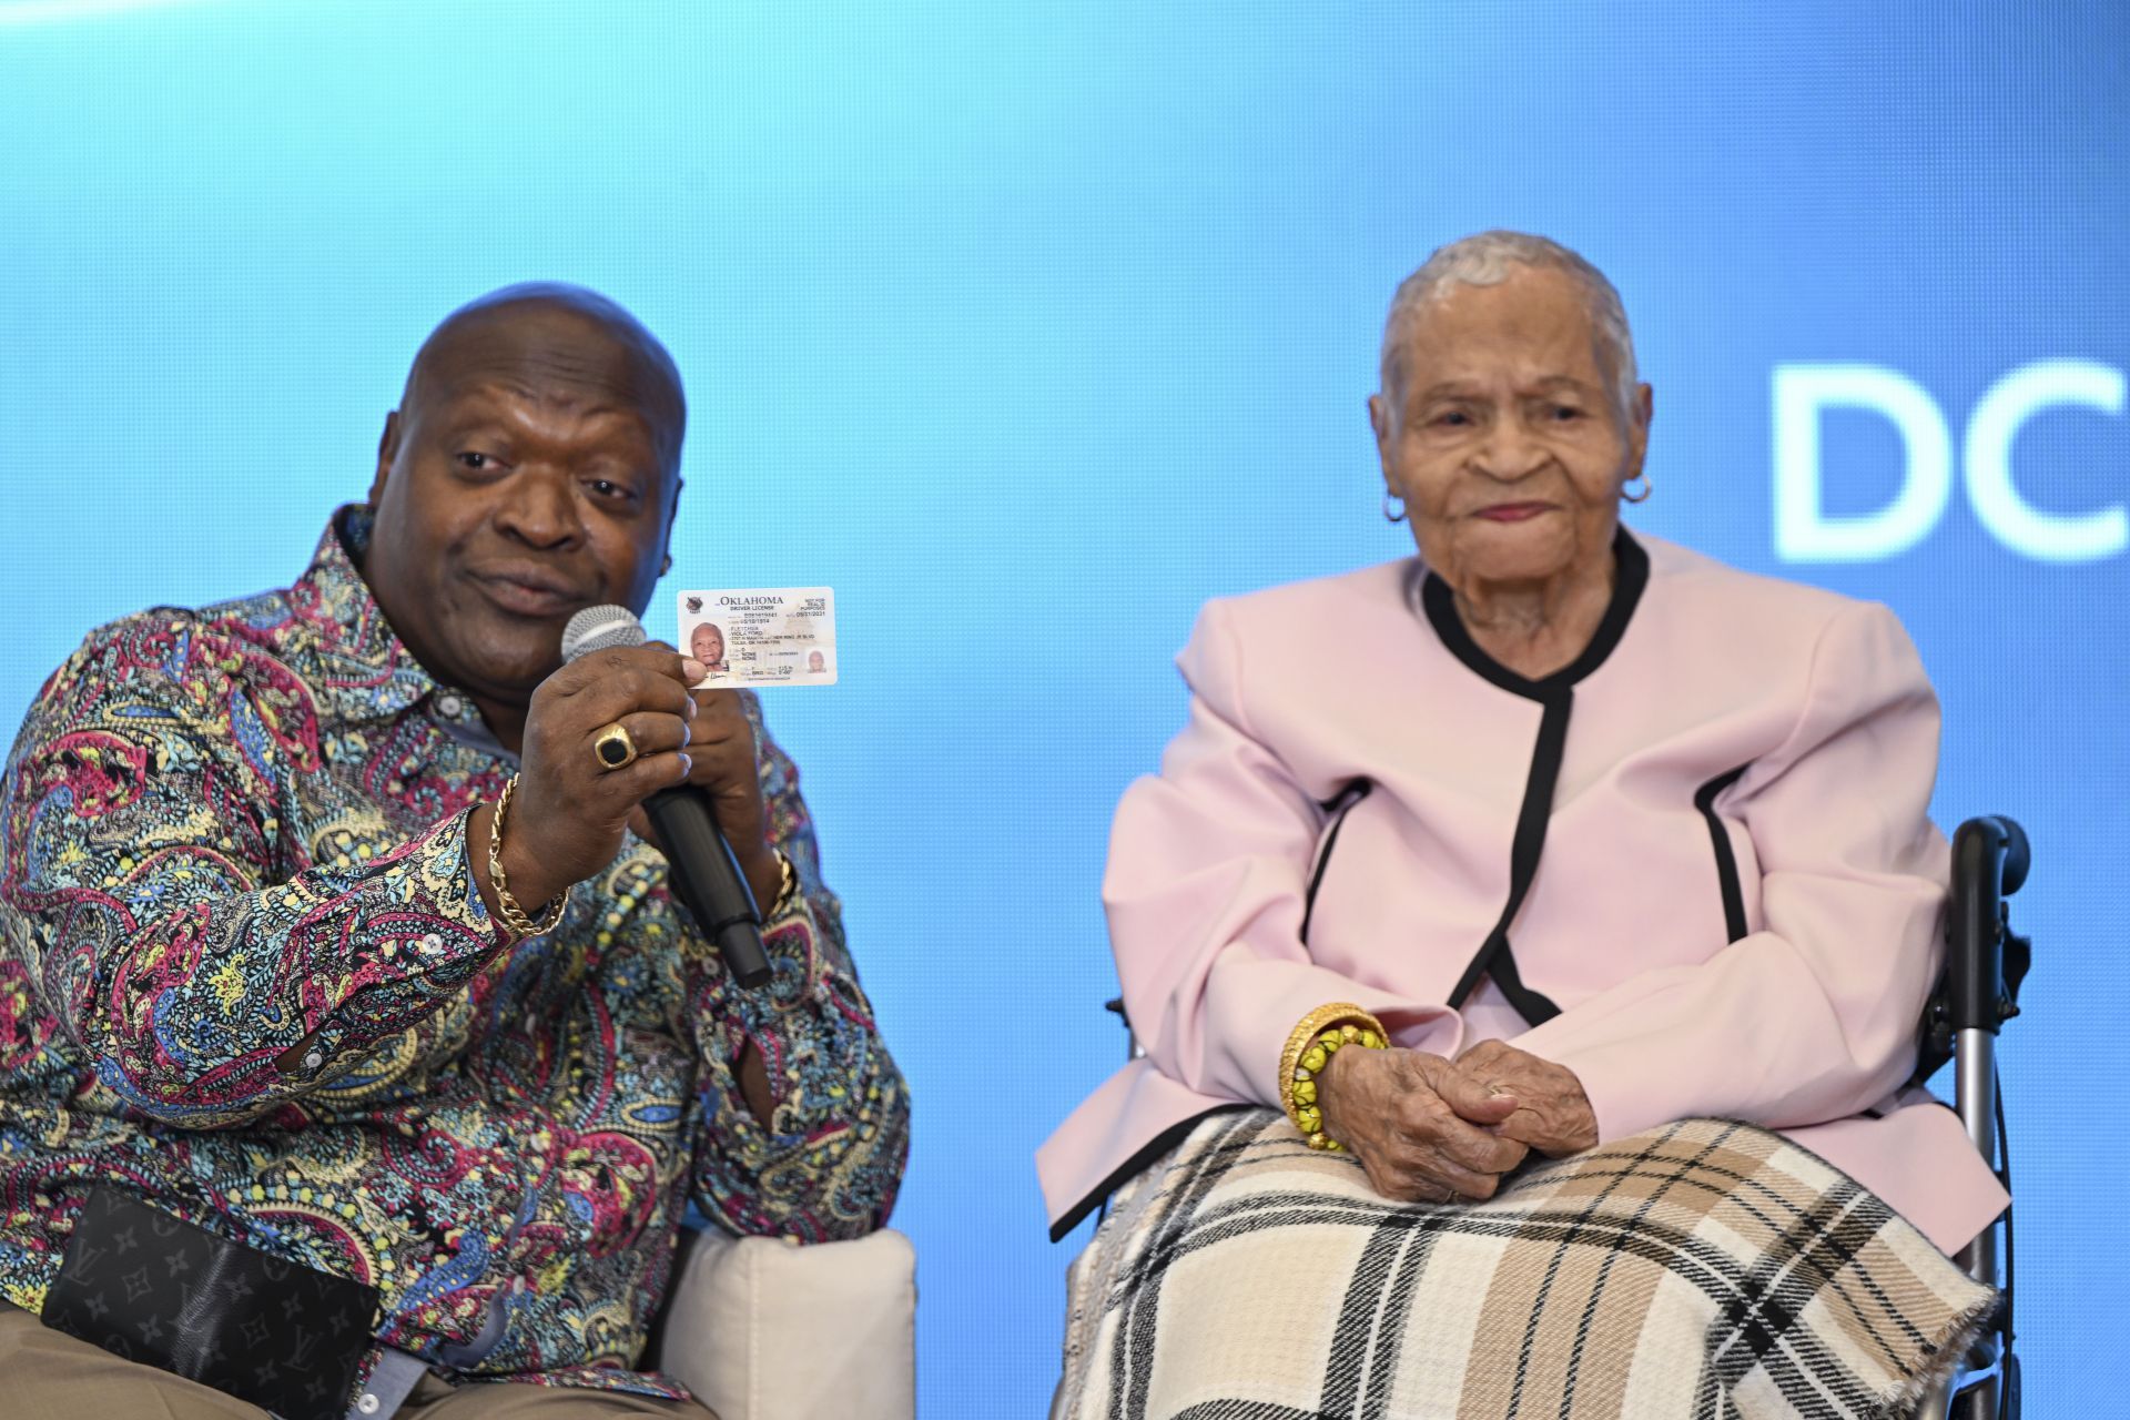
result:
[[(643, 624), (628, 607), (586, 607), (562, 628), (562, 660), (618, 645), (643, 645)], [(763, 954), (763, 913), (748, 879), (739, 875), (733, 845), (709, 811), (709, 796), (694, 786), (658, 790), (643, 800), (658, 841), (667, 852), (667, 879), (694, 924), (716, 943), (718, 954), (741, 986), (769, 984)]]

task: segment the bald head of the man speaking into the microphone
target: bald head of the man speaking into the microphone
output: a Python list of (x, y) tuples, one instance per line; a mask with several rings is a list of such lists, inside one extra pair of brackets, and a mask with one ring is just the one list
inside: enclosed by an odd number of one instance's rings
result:
[(511, 285), (428, 336), (386, 415), (362, 575), (505, 745), (584, 607), (650, 602), (679, 505), (679, 370), (622, 307)]

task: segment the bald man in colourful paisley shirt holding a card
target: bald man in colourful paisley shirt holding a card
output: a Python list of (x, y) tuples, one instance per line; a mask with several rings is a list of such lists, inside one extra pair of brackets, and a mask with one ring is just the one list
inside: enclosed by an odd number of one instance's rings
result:
[[(626, 311), (496, 292), (294, 585), (126, 617), (45, 683), (0, 781), (9, 1414), (266, 1414), (38, 1326), (96, 1186), (375, 1286), (362, 1414), (390, 1371), (409, 1416), (703, 1416), (635, 1369), (688, 1205), (886, 1222), (907, 1094), (758, 703), (660, 645), (560, 664), (671, 564), (684, 424)], [(760, 990), (667, 892), (639, 803), (679, 781), (763, 905)]]

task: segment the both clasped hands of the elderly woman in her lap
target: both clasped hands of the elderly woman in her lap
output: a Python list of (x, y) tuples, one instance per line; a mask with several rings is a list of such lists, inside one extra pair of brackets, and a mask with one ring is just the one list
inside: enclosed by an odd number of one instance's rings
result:
[(1421, 1050), (1342, 1050), (1318, 1075), (1325, 1130), (1384, 1199), (1491, 1199), (1523, 1158), (1598, 1143), (1574, 1071), (1482, 1041), (1457, 1060)]

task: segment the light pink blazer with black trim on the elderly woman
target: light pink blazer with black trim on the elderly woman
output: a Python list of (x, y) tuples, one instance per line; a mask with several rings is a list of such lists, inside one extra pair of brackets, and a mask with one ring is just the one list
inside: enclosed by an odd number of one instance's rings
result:
[(1103, 879), (1146, 1058), (1037, 1152), (1054, 1235), (1208, 1109), (1274, 1105), (1325, 1001), (1414, 1050), (1557, 1060), (1604, 1139), (1779, 1128), (1945, 1250), (2004, 1207), (1960, 1120), (1902, 1090), (1947, 886), (1906, 632), (1657, 539), (1617, 551), (1598, 639), (1544, 681), (1410, 558), (1206, 605), (1191, 724), (1125, 792)]

